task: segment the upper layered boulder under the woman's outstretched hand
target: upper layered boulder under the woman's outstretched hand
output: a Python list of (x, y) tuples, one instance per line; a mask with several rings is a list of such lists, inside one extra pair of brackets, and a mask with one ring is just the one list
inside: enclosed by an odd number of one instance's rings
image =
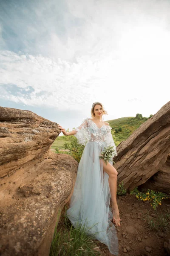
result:
[(59, 132), (57, 123), (31, 111), (0, 107), (0, 177), (48, 157)]

